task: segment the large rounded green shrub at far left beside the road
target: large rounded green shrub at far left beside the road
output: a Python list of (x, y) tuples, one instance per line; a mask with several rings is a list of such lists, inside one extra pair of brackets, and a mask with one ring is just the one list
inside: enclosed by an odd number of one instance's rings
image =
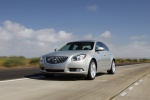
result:
[(16, 66), (24, 66), (25, 62), (24, 59), (21, 58), (7, 58), (3, 62), (3, 66), (5, 67), (16, 67)]

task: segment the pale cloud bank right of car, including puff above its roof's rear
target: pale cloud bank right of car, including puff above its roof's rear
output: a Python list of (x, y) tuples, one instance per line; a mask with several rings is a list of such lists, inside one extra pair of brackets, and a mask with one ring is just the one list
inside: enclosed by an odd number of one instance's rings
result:
[(112, 36), (110, 31), (105, 31), (104, 33), (100, 34), (99, 37), (93, 36), (92, 34), (87, 34), (85, 37), (87, 37), (86, 39), (88, 39), (88, 37), (92, 37), (90, 39), (104, 42), (115, 57), (150, 58), (150, 45), (146, 40), (134, 40), (124, 45), (118, 43), (118, 45), (116, 45), (113, 39), (117, 40), (117, 38)]

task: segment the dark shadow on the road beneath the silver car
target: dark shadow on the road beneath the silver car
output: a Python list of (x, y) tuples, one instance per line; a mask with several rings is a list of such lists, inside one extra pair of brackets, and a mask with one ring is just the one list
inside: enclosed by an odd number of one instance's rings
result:
[[(105, 75), (107, 73), (97, 73), (96, 77)], [(66, 75), (66, 74), (55, 74), (53, 77), (45, 77), (41, 73), (34, 73), (31, 75), (24, 76), (25, 78), (34, 80), (45, 80), (45, 81), (89, 81), (85, 76), (79, 75)]]

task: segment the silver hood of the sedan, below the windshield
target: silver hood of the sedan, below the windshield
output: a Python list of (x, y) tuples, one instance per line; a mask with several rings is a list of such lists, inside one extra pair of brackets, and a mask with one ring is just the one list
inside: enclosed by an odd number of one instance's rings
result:
[(48, 56), (73, 56), (73, 55), (79, 55), (79, 54), (90, 54), (93, 53), (92, 50), (71, 50), (71, 51), (56, 51), (49, 53), (45, 55), (46, 57)]

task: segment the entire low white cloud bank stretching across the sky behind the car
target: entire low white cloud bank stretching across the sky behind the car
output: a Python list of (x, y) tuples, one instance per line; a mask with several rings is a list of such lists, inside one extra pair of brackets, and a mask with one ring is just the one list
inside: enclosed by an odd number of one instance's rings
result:
[(113, 40), (117, 41), (117, 38), (114, 37), (110, 31), (105, 31), (99, 36), (87, 34), (80, 37), (64, 30), (56, 31), (53, 28), (33, 30), (15, 22), (5, 21), (0, 26), (0, 56), (38, 57), (53, 51), (64, 42), (75, 39), (94, 39), (108, 45), (115, 57), (150, 58), (149, 41), (145, 39), (147, 36), (131, 37), (130, 39), (133, 41), (125, 45), (116, 45), (117, 43), (114, 43)]

